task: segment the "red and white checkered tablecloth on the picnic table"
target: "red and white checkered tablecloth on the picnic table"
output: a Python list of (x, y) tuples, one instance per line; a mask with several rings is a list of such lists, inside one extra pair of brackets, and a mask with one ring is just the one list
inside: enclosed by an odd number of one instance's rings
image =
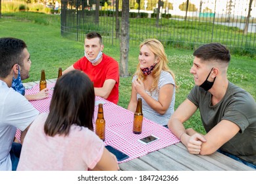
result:
[[(47, 85), (49, 88), (49, 97), (47, 99), (30, 101), (39, 112), (49, 112), (49, 105), (53, 93), (53, 90), (50, 88), (54, 87), (54, 85), (55, 83)], [(32, 89), (26, 89), (26, 94), (34, 94), (38, 93), (38, 91), (39, 85), (35, 85)], [(121, 162), (127, 162), (128, 160), (138, 158), (155, 150), (163, 149), (180, 141), (169, 129), (155, 122), (151, 122), (146, 118), (143, 118), (141, 134), (134, 134), (132, 132), (134, 113), (101, 97), (95, 97), (93, 122), (95, 122), (97, 118), (98, 103), (103, 103), (103, 112), (106, 122), (105, 145), (111, 145), (129, 156), (129, 158)], [(95, 124), (93, 124), (93, 126), (95, 127)], [(148, 135), (155, 135), (159, 137), (159, 140), (149, 143), (148, 145), (143, 145), (138, 141)]]

